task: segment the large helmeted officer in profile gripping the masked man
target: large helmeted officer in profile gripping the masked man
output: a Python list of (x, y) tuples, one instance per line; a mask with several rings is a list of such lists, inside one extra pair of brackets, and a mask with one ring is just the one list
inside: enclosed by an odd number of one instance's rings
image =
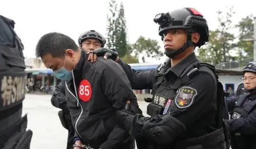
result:
[(152, 89), (153, 102), (147, 106), (152, 117), (118, 111), (119, 125), (140, 137), (138, 148), (225, 148), (223, 86), (215, 67), (201, 63), (194, 53), (208, 41), (206, 20), (196, 9), (183, 8), (160, 13), (154, 21), (170, 58), (156, 70), (132, 70), (111, 49), (90, 54), (89, 59), (97, 55), (118, 62), (133, 89)]

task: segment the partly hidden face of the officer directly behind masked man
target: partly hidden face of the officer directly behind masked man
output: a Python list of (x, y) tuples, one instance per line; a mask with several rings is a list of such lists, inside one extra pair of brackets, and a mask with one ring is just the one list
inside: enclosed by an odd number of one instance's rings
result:
[(98, 49), (101, 47), (101, 42), (98, 39), (89, 38), (84, 40), (81, 44), (82, 48), (86, 50), (86, 52), (93, 51), (94, 49)]

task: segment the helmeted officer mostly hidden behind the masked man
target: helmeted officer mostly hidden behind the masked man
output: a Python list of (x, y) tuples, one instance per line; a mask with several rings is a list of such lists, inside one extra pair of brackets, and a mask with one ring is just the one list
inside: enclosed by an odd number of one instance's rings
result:
[[(104, 47), (105, 43), (105, 38), (95, 30), (84, 32), (78, 38), (80, 48), (86, 51), (92, 51), (99, 47)], [(61, 81), (56, 87), (56, 90), (51, 98), (51, 103), (54, 107), (61, 109), (61, 111), (58, 112), (58, 115), (62, 126), (68, 130), (67, 149), (73, 148), (74, 142), (79, 140), (79, 138), (74, 138), (75, 130), (72, 126), (71, 115), (65, 97), (65, 81)]]

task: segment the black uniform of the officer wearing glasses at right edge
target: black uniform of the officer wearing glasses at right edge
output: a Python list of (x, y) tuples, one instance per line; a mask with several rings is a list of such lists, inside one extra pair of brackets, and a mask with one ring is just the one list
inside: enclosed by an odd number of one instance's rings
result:
[(231, 113), (229, 124), (232, 149), (256, 148), (256, 94), (238, 96), (238, 102)]

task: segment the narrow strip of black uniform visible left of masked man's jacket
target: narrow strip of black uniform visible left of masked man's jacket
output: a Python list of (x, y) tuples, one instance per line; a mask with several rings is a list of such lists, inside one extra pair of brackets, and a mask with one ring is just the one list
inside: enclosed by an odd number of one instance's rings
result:
[(65, 97), (65, 81), (61, 81), (59, 85), (56, 87), (56, 90), (54, 91), (53, 96), (51, 98), (51, 103), (54, 107), (61, 109), (61, 111), (58, 112), (58, 115), (62, 126), (68, 130), (67, 149), (74, 148), (73, 139), (75, 135), (75, 130), (72, 126), (71, 115)]

